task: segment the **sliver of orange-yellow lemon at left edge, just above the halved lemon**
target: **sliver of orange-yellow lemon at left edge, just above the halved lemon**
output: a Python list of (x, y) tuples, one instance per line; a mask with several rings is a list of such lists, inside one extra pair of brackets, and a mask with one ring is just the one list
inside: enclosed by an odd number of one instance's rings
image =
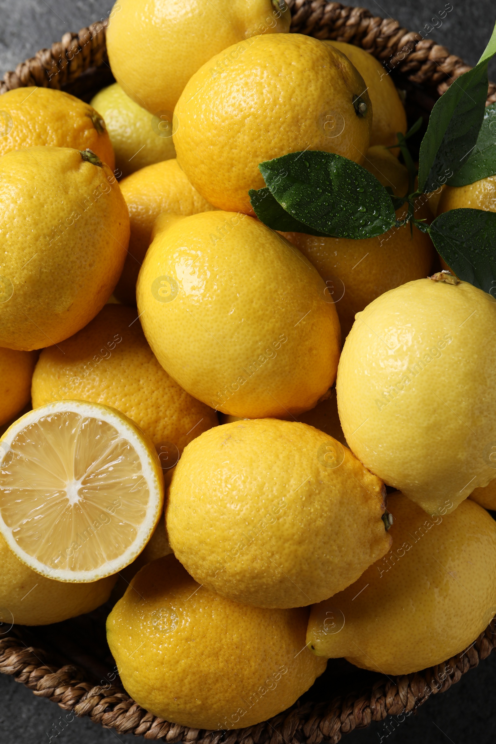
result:
[(0, 426), (30, 401), (36, 353), (0, 348)]

